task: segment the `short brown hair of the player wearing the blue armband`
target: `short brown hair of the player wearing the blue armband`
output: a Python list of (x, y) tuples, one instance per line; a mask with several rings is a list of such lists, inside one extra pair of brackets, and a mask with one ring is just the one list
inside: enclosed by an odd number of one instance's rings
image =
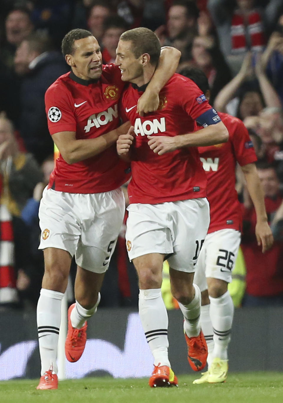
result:
[(148, 53), (150, 63), (156, 66), (159, 60), (161, 46), (159, 39), (151, 29), (142, 27), (130, 29), (122, 33), (120, 40), (132, 42), (132, 52), (136, 59), (142, 54)]

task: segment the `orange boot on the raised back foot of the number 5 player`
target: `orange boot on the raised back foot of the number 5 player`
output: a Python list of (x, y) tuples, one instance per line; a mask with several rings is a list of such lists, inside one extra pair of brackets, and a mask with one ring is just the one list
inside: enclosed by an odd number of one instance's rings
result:
[(68, 309), (68, 333), (65, 341), (65, 355), (70, 362), (76, 362), (81, 358), (87, 341), (87, 322), (80, 329), (72, 327), (71, 312), (76, 304)]

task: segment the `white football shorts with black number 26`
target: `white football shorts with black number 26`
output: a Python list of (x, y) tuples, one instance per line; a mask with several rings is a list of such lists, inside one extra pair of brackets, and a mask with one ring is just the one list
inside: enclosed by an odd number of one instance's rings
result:
[(238, 255), (241, 233), (234, 229), (221, 229), (207, 234), (200, 250), (194, 283), (200, 291), (207, 289), (207, 277), (230, 283), (231, 271)]

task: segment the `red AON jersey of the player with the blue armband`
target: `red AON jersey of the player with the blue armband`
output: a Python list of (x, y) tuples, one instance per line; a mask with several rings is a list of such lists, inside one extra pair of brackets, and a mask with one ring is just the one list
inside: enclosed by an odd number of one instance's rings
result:
[(130, 203), (157, 204), (206, 197), (207, 179), (197, 147), (159, 156), (149, 148), (147, 135), (176, 136), (193, 132), (195, 119), (211, 110), (211, 106), (193, 81), (175, 74), (159, 94), (158, 110), (140, 117), (136, 104), (144, 87), (129, 85), (122, 96), (122, 107), (136, 134), (132, 179), (128, 185)]

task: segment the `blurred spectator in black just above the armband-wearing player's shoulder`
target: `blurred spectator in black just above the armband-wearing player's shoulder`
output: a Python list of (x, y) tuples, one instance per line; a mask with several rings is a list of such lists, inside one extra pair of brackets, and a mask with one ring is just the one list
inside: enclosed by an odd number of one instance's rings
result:
[[(179, 72), (184, 73), (184, 64), (179, 65)], [(190, 66), (201, 69), (209, 81), (211, 97), (209, 102), (213, 105), (217, 93), (231, 80), (229, 66), (212, 36), (196, 36), (192, 43), (192, 61)]]

